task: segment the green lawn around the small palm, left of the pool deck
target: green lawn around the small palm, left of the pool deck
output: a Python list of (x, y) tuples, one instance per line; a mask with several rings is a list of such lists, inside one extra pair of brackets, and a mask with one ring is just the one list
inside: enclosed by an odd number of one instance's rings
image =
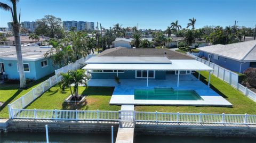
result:
[(118, 111), (121, 106), (109, 105), (109, 100), (113, 94), (114, 87), (79, 87), (78, 94), (87, 95), (84, 103), (64, 103), (70, 95), (66, 89), (61, 93), (58, 86), (54, 86), (46, 91), (41, 97), (27, 106), (28, 109), (45, 110), (107, 110)]

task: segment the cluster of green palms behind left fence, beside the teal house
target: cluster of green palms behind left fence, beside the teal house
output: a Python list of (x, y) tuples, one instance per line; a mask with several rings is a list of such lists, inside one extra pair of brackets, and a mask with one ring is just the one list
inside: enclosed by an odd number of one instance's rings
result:
[(60, 68), (94, 53), (97, 41), (83, 31), (69, 31), (63, 39), (51, 39), (49, 45), (52, 48), (45, 53), (45, 56), (50, 56), (53, 64)]

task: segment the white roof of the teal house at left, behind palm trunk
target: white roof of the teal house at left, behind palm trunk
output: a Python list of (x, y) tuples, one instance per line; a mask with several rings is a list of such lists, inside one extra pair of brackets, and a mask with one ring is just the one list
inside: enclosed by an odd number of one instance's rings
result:
[[(37, 61), (44, 59), (44, 54), (49, 51), (50, 47), (21, 47), (22, 51), (22, 60), (23, 61)], [(17, 54), (15, 50), (15, 46), (11, 46), (10, 48), (0, 47), (0, 58), (3, 60), (17, 60)]]

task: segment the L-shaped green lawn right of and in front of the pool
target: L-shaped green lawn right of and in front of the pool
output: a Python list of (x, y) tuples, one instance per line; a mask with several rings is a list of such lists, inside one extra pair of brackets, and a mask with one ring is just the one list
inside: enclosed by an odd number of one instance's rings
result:
[[(195, 74), (198, 75), (197, 73)], [(201, 72), (200, 80), (207, 84), (208, 72)], [(233, 107), (195, 107), (195, 106), (136, 106), (136, 111), (150, 112), (187, 112), (187, 113), (227, 113), (256, 114), (256, 103), (241, 92), (229, 86), (228, 83), (211, 75), (211, 88), (228, 100)]]

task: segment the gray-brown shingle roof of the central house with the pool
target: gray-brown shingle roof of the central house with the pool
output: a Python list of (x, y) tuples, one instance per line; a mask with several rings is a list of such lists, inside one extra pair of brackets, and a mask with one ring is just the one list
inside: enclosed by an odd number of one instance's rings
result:
[(98, 56), (164, 56), (164, 52), (166, 52), (166, 57), (170, 60), (194, 60), (194, 58), (175, 51), (171, 51), (170, 49), (162, 48), (112, 48), (103, 51)]

